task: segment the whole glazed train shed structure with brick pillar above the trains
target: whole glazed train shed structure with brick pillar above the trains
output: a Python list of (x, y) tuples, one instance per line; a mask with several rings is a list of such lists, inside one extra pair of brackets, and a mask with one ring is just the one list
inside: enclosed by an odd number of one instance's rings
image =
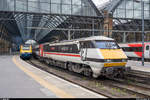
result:
[[(145, 41), (150, 41), (150, 0), (144, 1)], [(17, 51), (27, 40), (37, 43), (104, 35), (118, 43), (142, 40), (138, 0), (0, 0), (0, 53)]]

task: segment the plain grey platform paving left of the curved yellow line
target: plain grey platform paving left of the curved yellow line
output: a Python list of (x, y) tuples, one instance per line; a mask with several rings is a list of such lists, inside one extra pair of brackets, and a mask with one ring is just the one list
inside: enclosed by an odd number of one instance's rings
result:
[(54, 93), (16, 67), (12, 56), (0, 56), (0, 97), (57, 98)]

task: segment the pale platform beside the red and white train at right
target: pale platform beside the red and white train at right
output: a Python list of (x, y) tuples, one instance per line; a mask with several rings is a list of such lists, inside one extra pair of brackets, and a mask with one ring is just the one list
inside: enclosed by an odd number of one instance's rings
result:
[(150, 72), (150, 62), (145, 62), (145, 65), (142, 66), (141, 61), (132, 61), (129, 60), (127, 66), (130, 66), (133, 70), (143, 71), (143, 72)]

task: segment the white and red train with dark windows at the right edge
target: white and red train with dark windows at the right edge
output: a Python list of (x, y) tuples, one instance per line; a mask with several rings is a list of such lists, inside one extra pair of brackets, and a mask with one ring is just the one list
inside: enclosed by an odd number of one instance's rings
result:
[[(122, 43), (119, 46), (123, 49), (129, 59), (141, 60), (142, 58), (142, 42), (138, 43)], [(150, 60), (150, 42), (144, 43), (144, 58)]]

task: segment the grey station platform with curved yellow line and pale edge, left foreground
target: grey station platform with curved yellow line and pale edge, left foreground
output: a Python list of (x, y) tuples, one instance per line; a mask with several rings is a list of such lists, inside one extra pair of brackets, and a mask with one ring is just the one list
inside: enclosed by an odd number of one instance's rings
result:
[(0, 56), (1, 98), (106, 98), (33, 67), (19, 56)]

